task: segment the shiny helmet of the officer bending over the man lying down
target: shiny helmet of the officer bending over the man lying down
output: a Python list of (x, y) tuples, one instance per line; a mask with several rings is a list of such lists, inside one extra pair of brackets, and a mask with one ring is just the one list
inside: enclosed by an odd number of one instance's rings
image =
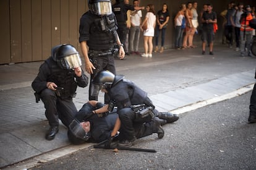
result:
[(98, 96), (98, 93), (102, 88), (108, 90), (122, 79), (124, 79), (124, 75), (114, 75), (108, 70), (98, 72), (92, 80), (93, 85), (91, 88), (91, 95)]

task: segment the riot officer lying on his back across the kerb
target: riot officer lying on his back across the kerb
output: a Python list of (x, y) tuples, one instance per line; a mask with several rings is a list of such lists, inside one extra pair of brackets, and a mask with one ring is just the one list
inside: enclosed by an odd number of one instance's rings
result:
[[(106, 140), (107, 143), (108, 138), (116, 136), (118, 130), (116, 122), (119, 121), (116, 109), (111, 113), (93, 113), (97, 109), (100, 110), (103, 106), (104, 104), (98, 101), (88, 101), (83, 104), (67, 131), (67, 136), (71, 143), (79, 145), (84, 142), (102, 142), (104, 140)], [(159, 119), (159, 121), (161, 125), (166, 124), (166, 120)], [(151, 135), (153, 129), (157, 128), (154, 127), (154, 125), (154, 122), (148, 122), (135, 126), (136, 138)], [(152, 128), (150, 129), (148, 127)]]

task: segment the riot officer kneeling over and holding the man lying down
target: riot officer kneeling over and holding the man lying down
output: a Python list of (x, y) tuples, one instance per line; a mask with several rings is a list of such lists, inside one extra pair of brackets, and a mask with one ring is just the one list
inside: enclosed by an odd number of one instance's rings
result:
[[(145, 122), (153, 122), (148, 127), (153, 133), (158, 134), (158, 138), (163, 138), (164, 131), (160, 126), (160, 122), (156, 119), (166, 119), (167, 122), (174, 122), (179, 119), (176, 114), (159, 113), (147, 93), (137, 87), (133, 82), (124, 79), (123, 75), (114, 75), (108, 71), (101, 71), (95, 75), (93, 79), (92, 95), (98, 95), (99, 91), (105, 92), (110, 98), (110, 102), (103, 106), (104, 109), (97, 109), (96, 114), (102, 111), (111, 111), (113, 105), (117, 107), (117, 114), (121, 121), (121, 129), (119, 134), (119, 145), (128, 147), (132, 145), (135, 137), (135, 125), (142, 125)], [(142, 111), (135, 112), (132, 106), (144, 104)]]

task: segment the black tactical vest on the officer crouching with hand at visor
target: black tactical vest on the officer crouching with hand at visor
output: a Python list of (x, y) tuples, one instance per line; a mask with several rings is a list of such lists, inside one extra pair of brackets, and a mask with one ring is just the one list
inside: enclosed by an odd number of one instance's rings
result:
[(58, 87), (63, 87), (60, 90), (60, 98), (72, 98), (77, 90), (77, 83), (75, 82), (75, 72), (71, 69), (61, 69), (52, 57), (49, 57), (46, 61), (49, 69), (51, 70), (51, 75), (49, 76), (47, 82), (54, 82)]

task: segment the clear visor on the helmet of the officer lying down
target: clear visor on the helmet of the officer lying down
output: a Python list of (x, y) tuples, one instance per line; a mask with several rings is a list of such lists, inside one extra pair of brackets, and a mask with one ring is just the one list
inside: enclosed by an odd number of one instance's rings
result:
[(83, 130), (83, 127), (80, 125), (80, 122), (77, 120), (73, 120), (70, 123), (69, 129), (72, 132), (72, 134), (74, 134), (75, 137), (77, 138), (80, 138), (85, 141), (87, 141), (90, 138), (89, 133), (86, 133), (85, 130)]

